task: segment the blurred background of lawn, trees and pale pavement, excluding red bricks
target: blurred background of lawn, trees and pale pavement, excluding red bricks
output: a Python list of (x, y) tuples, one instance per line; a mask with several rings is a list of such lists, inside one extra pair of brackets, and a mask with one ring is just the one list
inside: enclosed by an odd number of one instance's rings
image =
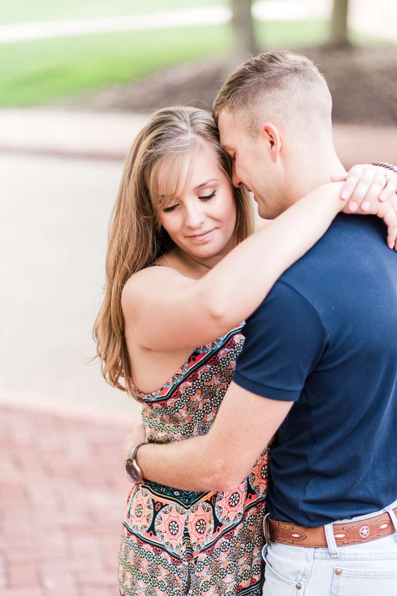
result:
[(136, 414), (85, 360), (122, 160), (150, 110), (211, 110), (249, 55), (293, 49), (326, 76), (345, 166), (397, 162), (396, 22), (396, 0), (2, 2), (1, 399)]

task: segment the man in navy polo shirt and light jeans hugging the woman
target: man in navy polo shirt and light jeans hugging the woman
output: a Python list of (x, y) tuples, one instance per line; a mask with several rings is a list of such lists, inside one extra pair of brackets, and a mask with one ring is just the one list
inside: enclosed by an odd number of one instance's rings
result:
[[(221, 89), (233, 183), (263, 218), (340, 171), (331, 107), (314, 64), (289, 52), (252, 58)], [(246, 322), (210, 432), (137, 452), (146, 479), (231, 491), (279, 429), (265, 595), (397, 595), (397, 256), (384, 238), (376, 218), (337, 216)]]

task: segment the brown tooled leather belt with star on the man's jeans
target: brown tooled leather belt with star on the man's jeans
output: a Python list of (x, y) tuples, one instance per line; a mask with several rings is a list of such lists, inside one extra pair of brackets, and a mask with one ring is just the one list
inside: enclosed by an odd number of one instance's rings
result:
[[(394, 513), (397, 514), (397, 508)], [(349, 544), (362, 544), (362, 542), (371, 542), (383, 536), (389, 536), (395, 533), (392, 520), (388, 513), (368, 519), (361, 522), (346, 522), (332, 526), (337, 547), (343, 547)], [(296, 547), (326, 547), (326, 533), (324, 526), (303, 527), (293, 523), (277, 522), (270, 516), (265, 519), (265, 540), (269, 544), (270, 540), (280, 544), (289, 544)]]

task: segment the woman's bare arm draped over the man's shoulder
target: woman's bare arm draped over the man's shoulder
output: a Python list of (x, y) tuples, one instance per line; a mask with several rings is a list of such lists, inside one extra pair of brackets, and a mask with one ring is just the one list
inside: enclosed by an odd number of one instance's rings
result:
[[(292, 263), (326, 232), (342, 210), (341, 183), (326, 184), (246, 238), (200, 280), (168, 267), (143, 269), (123, 290), (123, 313), (135, 339), (155, 351), (193, 348), (247, 318)], [(368, 213), (385, 218), (394, 245), (397, 218), (389, 201)]]

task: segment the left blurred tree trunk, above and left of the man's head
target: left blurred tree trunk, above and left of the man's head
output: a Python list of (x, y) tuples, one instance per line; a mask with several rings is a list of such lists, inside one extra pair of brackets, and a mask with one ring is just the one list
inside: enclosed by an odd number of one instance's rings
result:
[(242, 64), (251, 56), (257, 55), (257, 46), (252, 26), (251, 0), (232, 0), (233, 32), (235, 34), (235, 47), (233, 60)]

